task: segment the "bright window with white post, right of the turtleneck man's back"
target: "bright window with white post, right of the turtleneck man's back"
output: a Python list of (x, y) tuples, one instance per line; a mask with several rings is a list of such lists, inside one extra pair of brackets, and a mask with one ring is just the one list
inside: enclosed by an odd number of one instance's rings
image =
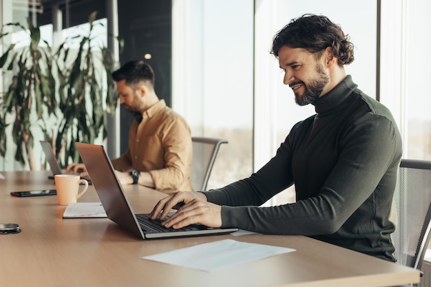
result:
[(381, 102), (403, 136), (403, 158), (431, 160), (431, 3), (382, 1)]

